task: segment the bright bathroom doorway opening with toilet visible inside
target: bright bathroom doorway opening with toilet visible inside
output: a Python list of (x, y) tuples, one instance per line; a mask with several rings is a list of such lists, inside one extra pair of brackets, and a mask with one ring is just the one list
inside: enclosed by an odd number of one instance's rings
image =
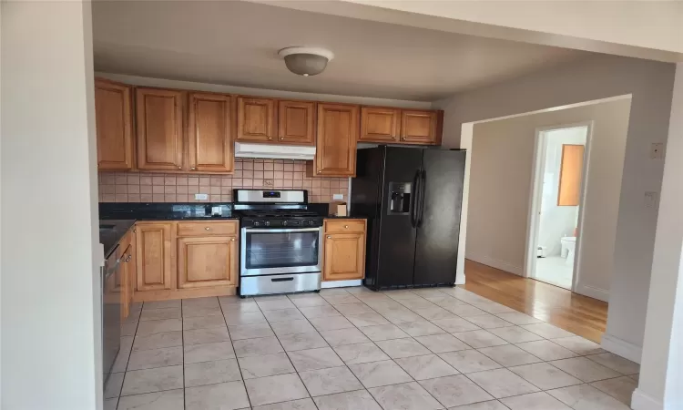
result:
[(526, 275), (574, 290), (589, 123), (537, 131)]

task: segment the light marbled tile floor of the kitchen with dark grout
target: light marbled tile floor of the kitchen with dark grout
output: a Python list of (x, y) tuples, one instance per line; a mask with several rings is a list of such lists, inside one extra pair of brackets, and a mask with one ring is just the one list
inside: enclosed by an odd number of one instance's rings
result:
[(619, 410), (639, 371), (461, 288), (145, 302), (124, 332), (106, 410)]

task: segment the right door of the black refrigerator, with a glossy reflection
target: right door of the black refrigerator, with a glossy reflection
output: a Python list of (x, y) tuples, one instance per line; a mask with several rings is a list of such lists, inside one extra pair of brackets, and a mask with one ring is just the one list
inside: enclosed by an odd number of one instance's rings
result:
[(423, 150), (414, 284), (455, 282), (465, 151)]

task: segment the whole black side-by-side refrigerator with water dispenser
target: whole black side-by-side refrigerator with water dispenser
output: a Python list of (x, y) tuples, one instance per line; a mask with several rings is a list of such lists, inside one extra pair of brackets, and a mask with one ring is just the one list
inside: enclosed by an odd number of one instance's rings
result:
[(464, 150), (358, 149), (351, 215), (367, 218), (365, 286), (453, 285)]

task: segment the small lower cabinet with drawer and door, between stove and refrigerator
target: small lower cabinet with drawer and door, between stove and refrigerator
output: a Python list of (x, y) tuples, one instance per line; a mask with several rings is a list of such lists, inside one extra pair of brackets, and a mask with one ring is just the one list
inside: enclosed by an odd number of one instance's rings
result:
[(365, 220), (325, 220), (323, 281), (349, 281), (365, 276), (366, 227)]

